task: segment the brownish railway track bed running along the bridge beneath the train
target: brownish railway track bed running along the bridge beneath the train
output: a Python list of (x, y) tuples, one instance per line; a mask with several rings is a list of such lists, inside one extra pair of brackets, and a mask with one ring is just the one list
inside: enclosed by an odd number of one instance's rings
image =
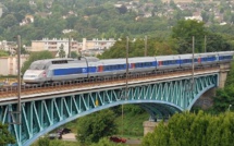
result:
[[(219, 71), (219, 66), (215, 68), (206, 68), (206, 69), (197, 69), (195, 70), (195, 74), (204, 74), (207, 72), (214, 72)], [(157, 72), (151, 74), (130, 74), (127, 82), (128, 84), (133, 82), (144, 82), (147, 80), (163, 80), (163, 78), (173, 78), (181, 75), (192, 75), (192, 70), (181, 70), (181, 71), (168, 71), (168, 72)], [(111, 85), (111, 84), (124, 84), (126, 83), (126, 77), (104, 77), (104, 78), (89, 78), (87, 81), (75, 81), (75, 82), (61, 82), (54, 83), (51, 85), (23, 85), (21, 88), (21, 95), (33, 95), (33, 94), (41, 94), (41, 93), (53, 93), (53, 92), (61, 92), (67, 89), (77, 89), (77, 88), (88, 88), (88, 87), (99, 87), (103, 85)], [(9, 98), (9, 97), (17, 97), (17, 87), (16, 86), (8, 86), (8, 87), (0, 87), (0, 98)]]

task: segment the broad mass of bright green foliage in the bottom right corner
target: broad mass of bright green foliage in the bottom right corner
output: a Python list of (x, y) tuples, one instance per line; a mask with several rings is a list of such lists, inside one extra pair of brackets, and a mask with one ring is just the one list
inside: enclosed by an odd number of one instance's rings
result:
[(144, 137), (141, 145), (231, 146), (234, 143), (233, 121), (233, 112), (213, 117), (202, 111), (199, 111), (197, 114), (189, 112), (176, 113), (168, 123), (162, 121), (152, 133), (148, 133)]

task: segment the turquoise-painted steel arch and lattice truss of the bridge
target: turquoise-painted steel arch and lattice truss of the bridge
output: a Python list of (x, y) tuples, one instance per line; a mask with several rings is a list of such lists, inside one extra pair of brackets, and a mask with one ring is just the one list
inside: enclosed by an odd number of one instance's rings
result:
[[(39, 136), (85, 114), (123, 104), (137, 104), (146, 109), (152, 119), (170, 117), (175, 112), (189, 110), (208, 89), (217, 87), (219, 74), (204, 74), (192, 80), (171, 78), (160, 82), (132, 84), (125, 97), (124, 86), (102, 88), (93, 92), (73, 93), (66, 96), (22, 100), (22, 124), (10, 124), (19, 146), (30, 145)], [(48, 95), (49, 97), (49, 95)], [(12, 123), (11, 111), (15, 104), (0, 107), (0, 121)]]

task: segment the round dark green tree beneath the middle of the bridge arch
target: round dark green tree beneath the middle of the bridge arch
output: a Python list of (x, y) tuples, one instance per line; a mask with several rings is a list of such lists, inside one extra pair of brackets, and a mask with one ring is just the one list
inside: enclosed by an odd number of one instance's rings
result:
[(111, 136), (116, 132), (114, 118), (114, 112), (109, 109), (81, 118), (77, 125), (77, 141), (82, 144), (90, 144)]

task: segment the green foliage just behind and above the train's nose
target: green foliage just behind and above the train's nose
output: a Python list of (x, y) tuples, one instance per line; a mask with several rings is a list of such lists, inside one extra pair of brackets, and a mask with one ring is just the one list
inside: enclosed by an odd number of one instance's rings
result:
[(52, 53), (49, 51), (39, 51), (39, 52), (33, 52), (30, 53), (29, 58), (27, 61), (24, 62), (21, 72), (22, 74), (25, 73), (25, 71), (29, 68), (29, 65), (32, 64), (32, 62), (36, 61), (36, 60), (42, 60), (42, 59), (52, 59)]

